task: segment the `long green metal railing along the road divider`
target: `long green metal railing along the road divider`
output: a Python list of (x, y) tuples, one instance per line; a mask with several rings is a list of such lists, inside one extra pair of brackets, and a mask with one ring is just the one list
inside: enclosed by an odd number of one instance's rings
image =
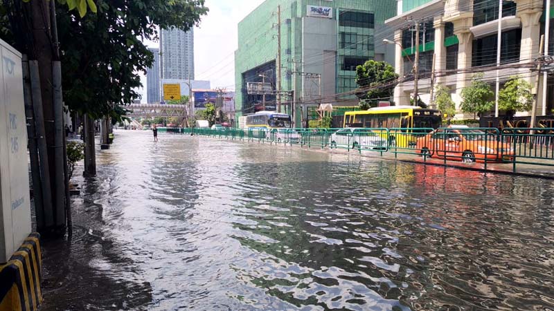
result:
[(383, 155), (421, 156), (447, 162), (491, 162), (554, 167), (554, 129), (159, 129), (160, 133), (201, 135), (259, 144), (345, 149)]

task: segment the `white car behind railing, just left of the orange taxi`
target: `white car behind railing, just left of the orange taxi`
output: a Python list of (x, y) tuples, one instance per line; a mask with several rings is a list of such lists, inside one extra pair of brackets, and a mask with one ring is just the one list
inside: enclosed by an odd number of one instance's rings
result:
[(341, 129), (330, 136), (330, 147), (352, 149), (386, 150), (387, 141), (379, 133), (357, 129)]

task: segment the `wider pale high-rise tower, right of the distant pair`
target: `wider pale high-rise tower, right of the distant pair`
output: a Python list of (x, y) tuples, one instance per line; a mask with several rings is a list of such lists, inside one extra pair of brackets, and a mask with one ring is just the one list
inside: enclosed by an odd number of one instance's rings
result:
[(194, 32), (161, 30), (161, 78), (195, 79)]

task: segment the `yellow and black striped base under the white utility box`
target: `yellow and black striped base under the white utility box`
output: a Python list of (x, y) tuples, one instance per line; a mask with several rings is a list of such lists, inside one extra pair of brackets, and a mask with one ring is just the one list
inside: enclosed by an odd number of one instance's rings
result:
[(0, 311), (35, 311), (42, 302), (39, 234), (31, 234), (6, 265), (0, 265)]

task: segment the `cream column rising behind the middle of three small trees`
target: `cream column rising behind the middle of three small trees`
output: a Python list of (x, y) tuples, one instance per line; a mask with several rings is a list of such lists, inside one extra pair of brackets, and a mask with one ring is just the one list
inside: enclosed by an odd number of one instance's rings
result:
[[(463, 72), (456, 74), (456, 93), (452, 95), (452, 100), (456, 102), (456, 111), (461, 113), (460, 104), (461, 92), (465, 86), (471, 84), (471, 73), (466, 73), (464, 70), (472, 66), (472, 47), (473, 47), (473, 34), (470, 31), (472, 25), (472, 19), (460, 19), (454, 21), (454, 34), (458, 37), (458, 70)], [(456, 115), (456, 117), (463, 117), (463, 115)]]

